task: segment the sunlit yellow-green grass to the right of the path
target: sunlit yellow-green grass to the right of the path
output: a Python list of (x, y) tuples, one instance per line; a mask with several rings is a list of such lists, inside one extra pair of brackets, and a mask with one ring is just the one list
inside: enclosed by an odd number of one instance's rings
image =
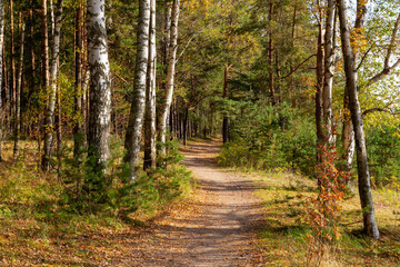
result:
[[(307, 266), (310, 227), (306, 207), (316, 197), (316, 182), (286, 171), (248, 170), (261, 189), (264, 219), (259, 233), (266, 266)], [(342, 202), (339, 218), (341, 238), (331, 245), (321, 266), (400, 266), (399, 191), (373, 190), (376, 216), (382, 235), (379, 241), (361, 235), (358, 195)]]

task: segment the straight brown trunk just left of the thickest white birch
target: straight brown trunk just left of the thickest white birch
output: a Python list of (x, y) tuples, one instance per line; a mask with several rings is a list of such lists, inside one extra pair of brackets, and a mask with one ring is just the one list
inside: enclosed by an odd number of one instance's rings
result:
[(83, 119), (82, 118), (82, 6), (79, 3), (76, 14), (76, 43), (74, 43), (74, 95), (73, 95), (73, 112), (74, 112), (74, 126), (73, 126), (73, 158), (79, 159), (82, 152), (83, 142), (84, 142), (84, 132), (83, 132)]

